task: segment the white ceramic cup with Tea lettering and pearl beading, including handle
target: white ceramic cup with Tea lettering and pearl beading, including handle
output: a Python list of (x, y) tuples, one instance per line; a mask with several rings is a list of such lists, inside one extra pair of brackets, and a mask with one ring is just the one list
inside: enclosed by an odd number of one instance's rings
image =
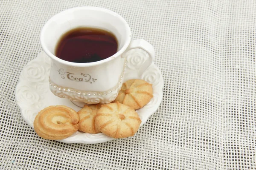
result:
[[(77, 27), (100, 28), (111, 31), (118, 41), (116, 54), (107, 59), (89, 63), (75, 63), (55, 56), (55, 47), (61, 35)], [(131, 41), (126, 21), (113, 11), (98, 7), (77, 7), (53, 16), (41, 30), (41, 45), (51, 58), (49, 87), (56, 96), (87, 104), (112, 102), (123, 83), (125, 53), (141, 48), (148, 59), (141, 70), (153, 62), (155, 51), (143, 39)]]

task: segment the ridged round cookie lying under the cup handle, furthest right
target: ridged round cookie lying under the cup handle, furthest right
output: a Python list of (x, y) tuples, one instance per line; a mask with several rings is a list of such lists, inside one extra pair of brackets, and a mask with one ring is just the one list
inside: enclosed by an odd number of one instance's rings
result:
[(115, 102), (118, 101), (136, 110), (146, 105), (152, 97), (153, 88), (150, 83), (142, 79), (130, 79), (122, 84)]

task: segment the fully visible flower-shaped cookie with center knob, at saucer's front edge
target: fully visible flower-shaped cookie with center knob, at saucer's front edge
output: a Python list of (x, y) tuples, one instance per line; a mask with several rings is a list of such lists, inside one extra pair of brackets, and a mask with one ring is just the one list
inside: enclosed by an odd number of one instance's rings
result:
[(138, 131), (140, 123), (138, 113), (119, 102), (102, 105), (95, 117), (97, 128), (113, 138), (133, 136)]

